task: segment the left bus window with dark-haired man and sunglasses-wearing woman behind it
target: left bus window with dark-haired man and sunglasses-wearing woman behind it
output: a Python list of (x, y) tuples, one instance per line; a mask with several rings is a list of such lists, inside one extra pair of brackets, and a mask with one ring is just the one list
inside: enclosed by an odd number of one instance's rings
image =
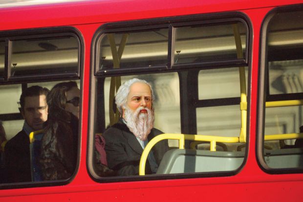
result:
[[(39, 30), (35, 35), (10, 32), (5, 40), (8, 48), (3, 50), (3, 58), (9, 60), (2, 62), (9, 64), (5, 66), (7, 71), (1, 71), (4, 79), (0, 83), (0, 120), (8, 140), (3, 145), (1, 162), (0, 183), (4, 186), (15, 183), (18, 187), (20, 182), (46, 180), (66, 183), (76, 170), (81, 109), (80, 39), (74, 30), (70, 33), (54, 30), (51, 35), (45, 34), (44, 29), (39, 35)], [(64, 87), (55, 92), (52, 89), (58, 84)], [(69, 137), (64, 141), (58, 138), (58, 125), (65, 129), (60, 137)], [(44, 141), (45, 135), (52, 135), (49, 139), (55, 141)], [(66, 163), (59, 163), (58, 159)]]

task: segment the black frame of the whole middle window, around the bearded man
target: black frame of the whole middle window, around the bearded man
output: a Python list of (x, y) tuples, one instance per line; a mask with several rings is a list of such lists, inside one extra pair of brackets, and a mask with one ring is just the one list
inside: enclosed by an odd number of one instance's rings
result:
[[(232, 20), (231, 20), (232, 19)], [(235, 20), (237, 19), (237, 20)], [(172, 24), (177, 24), (179, 26), (188, 26), (188, 24), (196, 24), (199, 21), (203, 24), (218, 24), (218, 22), (242, 22), (245, 25), (247, 35), (246, 35), (246, 48), (244, 59), (232, 60), (232, 61), (215, 61), (206, 63), (188, 63), (181, 65), (173, 65), (172, 56), (172, 40), (169, 39), (168, 46), (168, 65), (164, 67), (135, 67), (135, 68), (125, 68), (125, 69), (106, 69), (98, 70), (97, 59), (98, 58), (98, 41), (102, 34), (105, 33), (115, 33), (116, 32), (126, 32), (132, 30), (145, 31), (157, 26), (163, 27), (165, 24), (170, 26), (169, 37), (172, 36)], [(164, 24), (164, 25), (163, 25)], [(143, 28), (145, 27), (145, 28)], [(133, 29), (132, 29), (133, 28)], [(141, 28), (141, 29), (140, 29)], [(247, 97), (250, 98), (250, 83), (251, 83), (251, 67), (252, 67), (252, 41), (253, 41), (253, 29), (252, 22), (249, 17), (242, 12), (225, 12), (225, 13), (212, 13), (212, 14), (196, 14), (190, 16), (178, 16), (169, 18), (157, 18), (150, 20), (136, 20), (136, 21), (126, 21), (126, 22), (112, 22), (101, 25), (95, 32), (92, 44), (91, 44), (91, 72), (90, 72), (90, 92), (89, 92), (89, 109), (88, 113), (91, 114), (88, 117), (88, 143), (87, 143), (87, 171), (92, 180), (101, 183), (108, 182), (121, 182), (121, 181), (146, 181), (146, 180), (169, 180), (169, 179), (191, 179), (191, 178), (209, 178), (209, 177), (226, 177), (237, 175), (243, 166), (246, 164), (248, 156), (248, 140), (249, 140), (249, 128), (250, 128), (250, 99), (247, 99), (247, 127), (246, 127), (246, 151), (244, 154), (244, 160), (242, 164), (236, 170), (223, 171), (223, 172), (203, 172), (203, 173), (181, 173), (181, 174), (165, 174), (165, 175), (150, 175), (150, 176), (117, 176), (117, 177), (100, 177), (98, 176), (93, 168), (93, 153), (94, 153), (94, 132), (95, 132), (95, 120), (96, 120), (96, 103), (97, 103), (97, 83), (102, 79), (101, 83), (104, 84), (105, 78), (111, 76), (126, 76), (126, 75), (140, 75), (140, 74), (153, 74), (153, 73), (165, 73), (165, 72), (180, 72), (182, 70), (203, 70), (209, 68), (229, 68), (229, 67), (248, 67), (248, 90)], [(170, 66), (169, 66), (170, 65)], [(136, 70), (134, 73), (133, 70)], [(180, 79), (180, 77), (179, 77)], [(180, 94), (181, 96), (181, 94)], [(104, 98), (104, 93), (102, 95)], [(180, 104), (181, 108), (181, 104)], [(182, 111), (182, 109), (180, 109)], [(182, 123), (182, 120), (181, 120)]]

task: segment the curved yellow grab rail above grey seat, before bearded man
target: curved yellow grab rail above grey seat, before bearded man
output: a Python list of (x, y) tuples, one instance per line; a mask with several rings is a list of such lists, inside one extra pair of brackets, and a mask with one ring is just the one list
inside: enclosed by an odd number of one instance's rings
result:
[(145, 165), (147, 157), (151, 151), (151, 148), (159, 141), (164, 139), (176, 139), (179, 140), (179, 149), (184, 149), (185, 140), (193, 141), (207, 141), (210, 142), (210, 151), (216, 151), (216, 142), (226, 143), (237, 143), (239, 137), (222, 137), (222, 136), (211, 136), (211, 135), (184, 135), (184, 134), (162, 134), (157, 135), (149, 141), (143, 150), (140, 164), (139, 164), (139, 175), (145, 175)]

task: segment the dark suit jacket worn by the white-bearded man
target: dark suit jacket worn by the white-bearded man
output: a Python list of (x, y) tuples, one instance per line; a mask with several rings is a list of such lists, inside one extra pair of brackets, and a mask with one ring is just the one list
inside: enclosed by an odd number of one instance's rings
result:
[[(163, 134), (153, 128), (148, 135), (151, 140), (154, 136)], [(107, 153), (108, 167), (117, 171), (119, 176), (129, 176), (139, 174), (139, 162), (143, 149), (129, 128), (120, 119), (118, 123), (108, 128), (104, 134), (105, 151)], [(165, 152), (168, 151), (168, 140), (158, 142), (153, 148), (152, 153), (159, 165)], [(147, 160), (146, 174), (151, 174), (151, 167)]]

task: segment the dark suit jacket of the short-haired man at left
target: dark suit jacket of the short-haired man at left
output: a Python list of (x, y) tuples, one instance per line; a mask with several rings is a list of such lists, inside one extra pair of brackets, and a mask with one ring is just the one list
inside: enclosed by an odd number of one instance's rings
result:
[(29, 137), (23, 130), (5, 144), (4, 168), (7, 182), (32, 181)]

